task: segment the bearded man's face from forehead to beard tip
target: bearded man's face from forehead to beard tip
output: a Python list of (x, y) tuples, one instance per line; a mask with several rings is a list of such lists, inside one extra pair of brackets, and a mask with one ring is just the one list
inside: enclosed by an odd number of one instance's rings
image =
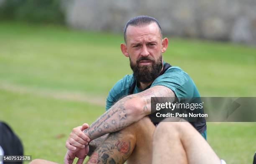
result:
[[(149, 83), (162, 70), (162, 40), (156, 23), (145, 26), (128, 26), (126, 47), (130, 66), (139, 82)], [(126, 55), (125, 55), (126, 56)]]

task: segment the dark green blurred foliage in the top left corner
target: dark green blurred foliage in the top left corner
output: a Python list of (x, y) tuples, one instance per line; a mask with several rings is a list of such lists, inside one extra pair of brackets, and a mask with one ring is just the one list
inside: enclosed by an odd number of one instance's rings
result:
[(0, 5), (0, 19), (61, 24), (64, 11), (61, 0), (4, 0)]

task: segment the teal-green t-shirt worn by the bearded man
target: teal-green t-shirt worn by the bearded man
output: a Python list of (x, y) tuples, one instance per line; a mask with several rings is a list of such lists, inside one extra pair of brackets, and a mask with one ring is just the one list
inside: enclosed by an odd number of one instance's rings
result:
[[(110, 90), (106, 100), (106, 110), (108, 110), (115, 102), (122, 97), (129, 94), (130, 87), (135, 82), (133, 74), (125, 75), (119, 80), (114, 87)], [(172, 89), (176, 97), (200, 97), (200, 94), (195, 86), (193, 80), (189, 75), (184, 72), (180, 67), (169, 67), (163, 75), (157, 77), (151, 86), (146, 87), (144, 90), (155, 85), (163, 85)], [(133, 90), (133, 94), (142, 92), (143, 90), (138, 88), (137, 85)], [(200, 133), (205, 132), (206, 123), (191, 123)]]

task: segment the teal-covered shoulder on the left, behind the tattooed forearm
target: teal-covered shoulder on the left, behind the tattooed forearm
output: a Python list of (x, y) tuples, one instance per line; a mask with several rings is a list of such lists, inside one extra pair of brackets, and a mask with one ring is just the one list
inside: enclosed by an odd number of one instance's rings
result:
[(110, 89), (106, 100), (106, 109), (109, 109), (120, 98), (128, 95), (129, 89), (133, 84), (133, 74), (125, 75), (122, 79), (118, 80), (115, 85)]

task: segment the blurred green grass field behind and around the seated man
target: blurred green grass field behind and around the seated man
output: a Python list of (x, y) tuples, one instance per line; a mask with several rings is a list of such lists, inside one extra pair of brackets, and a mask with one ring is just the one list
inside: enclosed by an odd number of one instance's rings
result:
[[(121, 34), (0, 23), (0, 120), (26, 155), (62, 163), (71, 129), (104, 112), (102, 99), (131, 73), (121, 42)], [(201, 96), (256, 96), (255, 47), (172, 37), (169, 43), (164, 60), (188, 72)], [(252, 163), (255, 136), (255, 123), (207, 124), (208, 142), (229, 164)]]

